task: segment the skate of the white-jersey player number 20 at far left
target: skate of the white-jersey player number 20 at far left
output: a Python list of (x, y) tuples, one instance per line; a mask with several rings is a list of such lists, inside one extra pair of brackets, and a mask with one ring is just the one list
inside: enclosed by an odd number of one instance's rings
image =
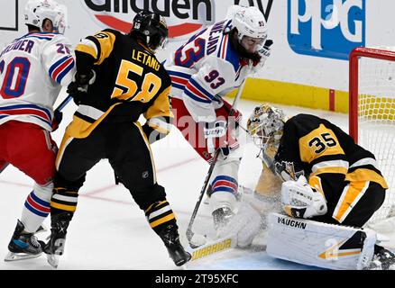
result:
[(41, 256), (42, 249), (39, 241), (33, 235), (24, 231), (23, 223), (18, 220), (13, 238), (8, 244), (8, 254), (5, 261), (31, 259)]

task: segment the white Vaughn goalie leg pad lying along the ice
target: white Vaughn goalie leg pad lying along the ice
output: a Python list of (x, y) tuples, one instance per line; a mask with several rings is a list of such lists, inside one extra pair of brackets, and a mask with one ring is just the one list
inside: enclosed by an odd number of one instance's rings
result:
[(308, 266), (355, 270), (369, 266), (377, 235), (372, 229), (354, 229), (278, 213), (268, 217), (266, 251)]

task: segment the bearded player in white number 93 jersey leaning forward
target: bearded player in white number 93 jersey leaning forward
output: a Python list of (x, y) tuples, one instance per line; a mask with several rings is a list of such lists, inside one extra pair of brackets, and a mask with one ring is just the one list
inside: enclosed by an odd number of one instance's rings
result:
[(272, 43), (258, 8), (234, 5), (226, 18), (199, 31), (165, 62), (174, 124), (208, 163), (216, 149), (222, 152), (208, 188), (217, 230), (234, 216), (242, 157), (235, 136), (241, 115), (229, 117), (231, 105), (222, 96), (263, 66)]

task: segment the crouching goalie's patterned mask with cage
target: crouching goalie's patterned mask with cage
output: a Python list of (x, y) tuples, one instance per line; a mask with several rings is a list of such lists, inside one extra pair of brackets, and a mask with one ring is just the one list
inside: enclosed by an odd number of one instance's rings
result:
[(267, 103), (255, 107), (247, 121), (247, 130), (258, 148), (278, 150), (284, 123), (288, 117), (281, 109)]

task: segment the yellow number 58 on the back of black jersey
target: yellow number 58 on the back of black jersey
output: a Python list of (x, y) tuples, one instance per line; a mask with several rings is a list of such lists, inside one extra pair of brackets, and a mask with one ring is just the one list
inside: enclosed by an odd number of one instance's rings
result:
[(142, 80), (142, 86), (137, 86), (136, 82), (129, 78), (129, 73), (132, 72), (142, 77), (144, 68), (131, 61), (122, 60), (116, 76), (115, 86), (111, 98), (117, 97), (118, 99), (127, 101), (140, 101), (142, 103), (149, 102), (155, 94), (161, 89), (161, 78), (153, 73), (147, 73)]

